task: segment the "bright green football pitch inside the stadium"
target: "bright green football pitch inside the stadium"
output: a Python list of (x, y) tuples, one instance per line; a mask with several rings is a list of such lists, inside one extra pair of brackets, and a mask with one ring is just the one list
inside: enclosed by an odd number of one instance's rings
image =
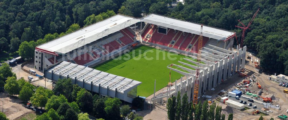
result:
[[(138, 46), (130, 52), (97, 65), (94, 69), (142, 82), (137, 87), (137, 95), (148, 97), (154, 93), (154, 80), (156, 80), (156, 91), (168, 84), (170, 72), (170, 69), (167, 68), (168, 65), (171, 63), (181, 65), (178, 61), (188, 63), (183, 58), (192, 59), (149, 46)], [(189, 62), (189, 64), (193, 63)], [(177, 68), (176, 66), (172, 67)], [(192, 69), (191, 67), (187, 68)], [(179, 68), (177, 69), (179, 70)], [(181, 76), (183, 75), (171, 71), (172, 82), (181, 78)]]

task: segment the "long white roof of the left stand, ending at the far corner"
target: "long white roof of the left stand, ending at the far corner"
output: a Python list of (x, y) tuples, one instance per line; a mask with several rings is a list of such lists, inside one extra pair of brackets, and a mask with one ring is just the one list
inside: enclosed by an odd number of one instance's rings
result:
[(55, 55), (67, 53), (137, 22), (140, 22), (140, 20), (118, 14), (45, 44), (41, 44), (36, 47), (36, 50)]

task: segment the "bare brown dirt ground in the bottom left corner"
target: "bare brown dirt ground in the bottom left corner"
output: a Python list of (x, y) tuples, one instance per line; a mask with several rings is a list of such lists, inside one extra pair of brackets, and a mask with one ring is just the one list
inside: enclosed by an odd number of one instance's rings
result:
[(34, 112), (33, 110), (25, 108), (25, 105), (22, 104), (22, 101), (14, 96), (8, 95), (6, 92), (2, 92), (0, 94), (0, 109), (2, 110), (2, 103), (3, 103), (3, 112), (10, 120), (14, 120), (22, 115), (27, 113)]

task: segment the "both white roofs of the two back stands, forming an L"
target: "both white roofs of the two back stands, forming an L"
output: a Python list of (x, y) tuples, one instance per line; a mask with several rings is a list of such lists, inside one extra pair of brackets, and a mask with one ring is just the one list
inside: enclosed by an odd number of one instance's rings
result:
[[(65, 54), (140, 21), (193, 34), (199, 34), (201, 27), (201, 25), (197, 23), (157, 14), (149, 14), (148, 16), (139, 19), (117, 14), (68, 35), (41, 44), (35, 49), (52, 55)], [(234, 35), (235, 33), (232, 31), (203, 26), (203, 36), (205, 37), (217, 40), (228, 40)]]

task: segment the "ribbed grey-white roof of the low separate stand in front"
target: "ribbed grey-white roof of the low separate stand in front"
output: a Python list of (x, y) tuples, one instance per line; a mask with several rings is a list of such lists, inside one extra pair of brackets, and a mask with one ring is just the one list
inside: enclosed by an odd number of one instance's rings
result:
[(98, 84), (101, 84), (103, 88), (107, 88), (107, 86), (109, 86), (109, 89), (117, 88), (117, 91), (120, 93), (124, 93), (124, 91), (128, 89), (133, 89), (142, 83), (67, 61), (62, 61), (58, 65), (49, 68), (47, 72), (52, 73), (52, 70), (54, 72), (53, 74), (60, 74), (61, 76), (69, 75), (69, 78), (73, 79), (76, 77), (77, 80), (84, 80), (85, 83), (89, 84), (92, 81), (93, 85), (98, 86)]

